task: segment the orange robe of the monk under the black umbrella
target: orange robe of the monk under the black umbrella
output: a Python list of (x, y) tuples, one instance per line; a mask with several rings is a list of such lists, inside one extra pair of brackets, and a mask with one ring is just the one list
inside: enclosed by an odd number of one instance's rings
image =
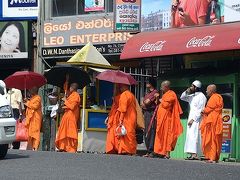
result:
[(72, 92), (64, 103), (63, 114), (57, 137), (56, 147), (66, 152), (76, 152), (78, 146), (78, 128), (80, 96)]

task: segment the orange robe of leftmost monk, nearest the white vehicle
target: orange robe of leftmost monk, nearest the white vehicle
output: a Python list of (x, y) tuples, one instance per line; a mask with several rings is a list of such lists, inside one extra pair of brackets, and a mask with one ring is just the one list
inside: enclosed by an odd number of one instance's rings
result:
[(26, 122), (28, 128), (28, 145), (37, 150), (40, 144), (40, 130), (42, 125), (42, 105), (41, 97), (35, 95), (25, 103)]

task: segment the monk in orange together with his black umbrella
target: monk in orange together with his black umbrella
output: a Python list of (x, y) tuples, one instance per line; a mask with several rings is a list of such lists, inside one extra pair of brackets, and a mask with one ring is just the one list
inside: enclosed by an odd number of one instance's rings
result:
[(75, 153), (78, 146), (77, 124), (80, 114), (80, 95), (77, 89), (84, 88), (91, 82), (89, 75), (78, 67), (58, 65), (45, 73), (45, 77), (49, 84), (63, 87), (65, 91), (65, 97), (62, 99), (64, 114), (57, 132), (56, 147), (60, 152)]

